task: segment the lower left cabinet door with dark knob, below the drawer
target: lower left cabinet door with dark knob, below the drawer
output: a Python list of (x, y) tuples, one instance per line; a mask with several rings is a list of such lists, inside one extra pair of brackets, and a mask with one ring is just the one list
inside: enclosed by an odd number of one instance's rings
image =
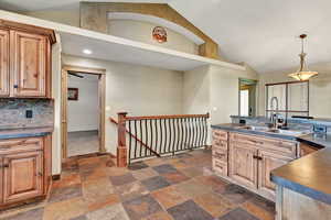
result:
[(43, 195), (42, 152), (22, 152), (3, 156), (3, 202)]

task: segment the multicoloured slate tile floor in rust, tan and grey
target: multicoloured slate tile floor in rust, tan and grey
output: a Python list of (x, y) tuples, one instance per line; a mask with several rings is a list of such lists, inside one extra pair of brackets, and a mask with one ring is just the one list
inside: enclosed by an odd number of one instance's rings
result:
[(211, 151), (129, 168), (108, 155), (71, 160), (46, 201), (2, 211), (7, 220), (273, 220), (275, 205), (213, 175)]

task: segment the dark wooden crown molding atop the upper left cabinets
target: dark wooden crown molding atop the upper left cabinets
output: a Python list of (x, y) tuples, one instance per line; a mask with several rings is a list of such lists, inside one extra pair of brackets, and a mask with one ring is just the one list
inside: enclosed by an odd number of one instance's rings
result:
[(7, 21), (0, 19), (0, 26), (2, 29), (10, 29), (10, 30), (15, 30), (15, 31), (23, 31), (23, 32), (31, 32), (34, 34), (40, 34), (40, 35), (45, 35), (50, 38), (51, 44), (56, 43), (56, 36), (54, 30), (51, 29), (44, 29), (40, 26), (34, 26), (30, 24), (22, 24), (22, 23), (17, 23), (13, 21)]

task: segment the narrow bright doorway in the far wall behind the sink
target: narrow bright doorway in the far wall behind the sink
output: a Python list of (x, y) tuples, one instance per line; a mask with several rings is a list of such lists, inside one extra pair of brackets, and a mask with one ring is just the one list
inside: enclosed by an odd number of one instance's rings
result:
[(257, 81), (253, 79), (239, 79), (239, 116), (256, 116), (256, 86)]

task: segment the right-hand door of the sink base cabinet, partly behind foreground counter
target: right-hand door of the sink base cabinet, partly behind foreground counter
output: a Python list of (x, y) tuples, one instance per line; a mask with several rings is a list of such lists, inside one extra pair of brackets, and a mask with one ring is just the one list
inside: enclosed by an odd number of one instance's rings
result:
[(293, 158), (269, 151), (259, 151), (258, 154), (258, 189), (264, 195), (275, 197), (276, 185), (270, 180), (270, 172)]

